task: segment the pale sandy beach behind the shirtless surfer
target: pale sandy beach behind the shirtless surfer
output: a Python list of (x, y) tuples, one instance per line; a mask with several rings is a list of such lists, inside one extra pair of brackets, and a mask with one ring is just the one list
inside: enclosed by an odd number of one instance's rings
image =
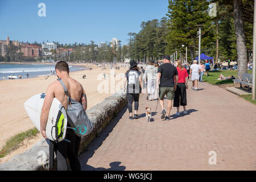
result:
[[(88, 66), (88, 64), (87, 64)], [(99, 76), (106, 73), (106, 78), (109, 77), (110, 84), (110, 69), (97, 68), (95, 65), (91, 66), (92, 70), (84, 70), (79, 72), (71, 72), (69, 75), (79, 81), (88, 99), (88, 109), (90, 107), (98, 104), (105, 97), (112, 95), (115, 91), (109, 89), (109, 93), (99, 93), (99, 86), (104, 80), (104, 76)], [(118, 73), (125, 73), (125, 68), (120, 68), (115, 70), (115, 75)], [(86, 78), (82, 78), (82, 75), (86, 75)], [(100, 78), (102, 80), (100, 80)], [(112, 77), (118, 79), (118, 76)], [(30, 121), (26, 110), (24, 109), (23, 103), (28, 100), (31, 96), (38, 93), (45, 93), (47, 86), (57, 79), (56, 75), (51, 75), (47, 79), (45, 76), (40, 76), (36, 78), (27, 78), (21, 80), (1, 80), (0, 81), (0, 148), (2, 148), (6, 140), (13, 137), (15, 134), (21, 133), (32, 129), (34, 125)], [(121, 79), (115, 81), (115, 85), (121, 85)], [(102, 90), (100, 89), (102, 92)], [(12, 152), (5, 158), (0, 159), (0, 164), (9, 160), (11, 156), (22, 153), (27, 150), (33, 144), (43, 139), (42, 135), (39, 133), (37, 137), (30, 139), (27, 142), (23, 142), (23, 146), (19, 147), (18, 150)], [(21, 144), (22, 145), (22, 144)]]

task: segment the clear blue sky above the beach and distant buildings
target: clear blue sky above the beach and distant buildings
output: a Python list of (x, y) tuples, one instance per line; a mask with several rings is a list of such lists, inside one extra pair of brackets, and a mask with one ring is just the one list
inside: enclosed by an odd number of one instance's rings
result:
[[(39, 3), (46, 17), (39, 17)], [(143, 21), (166, 16), (168, 0), (0, 0), (0, 39), (20, 42), (127, 44)]]

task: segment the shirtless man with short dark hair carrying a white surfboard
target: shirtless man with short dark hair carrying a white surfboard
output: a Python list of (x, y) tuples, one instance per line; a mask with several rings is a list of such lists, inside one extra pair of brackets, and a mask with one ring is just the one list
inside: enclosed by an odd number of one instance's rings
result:
[[(64, 85), (68, 89), (68, 94), (71, 96), (73, 100), (80, 102), (84, 110), (87, 109), (87, 100), (86, 94), (82, 85), (76, 81), (75, 79), (69, 76), (69, 67), (65, 61), (59, 61), (55, 65), (55, 71), (58, 78), (64, 82)], [(61, 102), (61, 104), (68, 108), (68, 96), (66, 96), (63, 86), (60, 84), (59, 80), (52, 82), (46, 90), (46, 97), (44, 98), (44, 104), (41, 111), (40, 116), (40, 130), (44, 138), (46, 137), (46, 123), (49, 114), (49, 109), (51, 107), (53, 98), (57, 98)], [(71, 127), (68, 123), (68, 127)], [(72, 129), (68, 129), (66, 133), (67, 142), (65, 140), (55, 143), (52, 140), (49, 141), (49, 154), (53, 155), (53, 151), (56, 149), (57, 156), (57, 169), (58, 171), (67, 171), (67, 158), (69, 160), (71, 169), (73, 171), (79, 171), (81, 169), (81, 165), (78, 159), (78, 152), (80, 147), (81, 137), (77, 137), (75, 131)], [(54, 155), (53, 155), (54, 156)], [(50, 158), (51, 159), (51, 158)], [(53, 159), (52, 159), (53, 160)], [(51, 162), (50, 162), (51, 163)]]

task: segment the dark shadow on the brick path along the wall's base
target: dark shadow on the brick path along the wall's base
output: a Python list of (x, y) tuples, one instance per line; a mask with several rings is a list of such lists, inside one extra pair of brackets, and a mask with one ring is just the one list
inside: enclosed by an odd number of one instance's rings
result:
[(102, 130), (101, 133), (98, 134), (98, 136), (94, 138), (92, 142), (87, 146), (86, 150), (80, 154), (79, 161), (81, 164), (81, 171), (123, 171), (126, 169), (125, 166), (119, 166), (121, 162), (109, 163), (110, 168), (107, 169), (103, 167), (95, 168), (87, 164), (88, 159), (92, 158), (94, 152), (101, 146), (102, 142), (106, 139), (106, 137), (108, 137), (109, 133), (112, 132), (113, 128), (118, 123), (119, 119), (123, 117), (123, 114), (126, 112), (126, 110), (127, 105), (119, 111), (117, 116), (108, 123), (105, 129)]

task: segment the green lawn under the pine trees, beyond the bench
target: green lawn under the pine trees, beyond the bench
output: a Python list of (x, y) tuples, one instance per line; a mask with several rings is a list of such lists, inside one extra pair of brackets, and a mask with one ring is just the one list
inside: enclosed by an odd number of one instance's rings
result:
[[(251, 70), (248, 70), (248, 73), (252, 73)], [(237, 70), (218, 70), (218, 71), (210, 71), (209, 76), (204, 75), (203, 81), (207, 81), (209, 84), (213, 85), (222, 85), (222, 84), (233, 84), (233, 80), (217, 80), (220, 74), (225, 77), (234, 76), (237, 78)]]

